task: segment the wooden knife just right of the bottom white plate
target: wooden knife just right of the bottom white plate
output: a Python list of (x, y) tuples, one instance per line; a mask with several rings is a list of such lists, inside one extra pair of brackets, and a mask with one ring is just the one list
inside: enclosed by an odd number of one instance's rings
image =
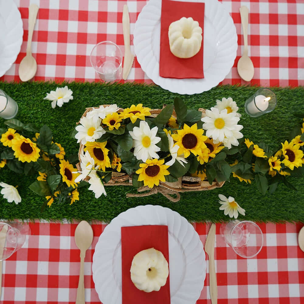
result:
[(209, 288), (212, 304), (217, 304), (217, 283), (216, 272), (214, 266), (214, 239), (215, 239), (216, 226), (212, 224), (205, 243), (205, 251), (209, 256)]

